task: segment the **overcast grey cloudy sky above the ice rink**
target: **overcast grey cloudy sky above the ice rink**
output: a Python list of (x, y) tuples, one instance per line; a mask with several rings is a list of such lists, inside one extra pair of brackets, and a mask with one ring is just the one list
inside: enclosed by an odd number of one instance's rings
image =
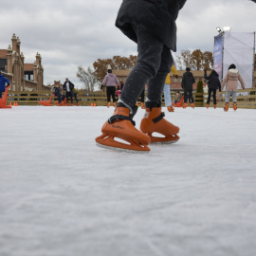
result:
[[(26, 63), (39, 52), (45, 84), (64, 82), (76, 86), (78, 65), (93, 67), (97, 59), (137, 54), (137, 45), (126, 38), (115, 20), (122, 0), (8, 0), (1, 1), (0, 48), (21, 40)], [(256, 4), (249, 0), (188, 0), (177, 19), (177, 53), (182, 49), (213, 51), (216, 27), (232, 32), (256, 30)]]

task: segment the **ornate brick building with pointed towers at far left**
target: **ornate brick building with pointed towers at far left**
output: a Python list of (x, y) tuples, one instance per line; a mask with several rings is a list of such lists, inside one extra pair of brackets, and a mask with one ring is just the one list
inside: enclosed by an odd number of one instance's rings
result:
[(21, 41), (15, 34), (8, 49), (0, 49), (0, 70), (9, 79), (12, 91), (49, 91), (44, 85), (44, 67), (39, 53), (33, 64), (25, 64)]

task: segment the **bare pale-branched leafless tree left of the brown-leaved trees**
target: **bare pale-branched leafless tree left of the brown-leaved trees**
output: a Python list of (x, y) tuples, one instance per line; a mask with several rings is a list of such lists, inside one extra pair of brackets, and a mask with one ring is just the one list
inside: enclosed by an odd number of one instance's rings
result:
[(95, 87), (99, 86), (99, 84), (97, 84), (97, 77), (95, 76), (94, 71), (90, 66), (85, 69), (82, 67), (82, 65), (79, 65), (77, 77), (84, 85), (85, 90), (93, 92)]

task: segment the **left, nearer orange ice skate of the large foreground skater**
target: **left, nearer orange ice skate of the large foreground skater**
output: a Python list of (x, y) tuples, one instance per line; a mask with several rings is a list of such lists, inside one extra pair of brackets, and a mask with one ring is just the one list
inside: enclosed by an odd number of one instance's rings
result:
[[(96, 137), (97, 145), (128, 152), (149, 152), (150, 137), (135, 128), (133, 117), (137, 112), (137, 106), (134, 109), (133, 115), (130, 115), (129, 108), (118, 106), (114, 115), (103, 124), (102, 135)], [(124, 140), (126, 143), (115, 138)]]

